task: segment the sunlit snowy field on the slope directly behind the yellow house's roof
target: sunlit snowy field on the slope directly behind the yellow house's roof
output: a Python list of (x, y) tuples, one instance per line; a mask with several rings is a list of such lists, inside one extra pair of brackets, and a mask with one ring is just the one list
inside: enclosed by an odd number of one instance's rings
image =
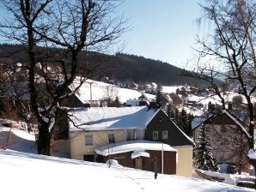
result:
[[(76, 87), (80, 84), (80, 78), (76, 77), (74, 82), (70, 85), (70, 90), (75, 91)], [(92, 93), (92, 95), (90, 95)], [(127, 99), (138, 99), (142, 93), (137, 90), (132, 90), (123, 87), (117, 87), (112, 84), (108, 84), (101, 81), (86, 80), (79, 88), (78, 92), (75, 93), (76, 97), (87, 103), (89, 100), (101, 100), (103, 98), (116, 99), (119, 98), (121, 103), (125, 103)], [(145, 93), (147, 98), (155, 99), (155, 95)]]

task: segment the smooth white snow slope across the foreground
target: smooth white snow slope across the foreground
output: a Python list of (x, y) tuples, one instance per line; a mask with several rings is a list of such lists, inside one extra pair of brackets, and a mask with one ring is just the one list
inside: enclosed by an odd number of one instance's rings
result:
[(223, 183), (110, 167), (85, 161), (0, 151), (0, 190), (26, 191), (254, 191)]

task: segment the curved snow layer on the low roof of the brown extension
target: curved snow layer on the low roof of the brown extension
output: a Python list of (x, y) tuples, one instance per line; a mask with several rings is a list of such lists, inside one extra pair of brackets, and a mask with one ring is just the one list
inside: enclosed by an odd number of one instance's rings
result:
[(162, 142), (155, 141), (124, 141), (110, 144), (109, 146), (102, 146), (95, 149), (95, 153), (107, 156), (110, 154), (126, 153), (131, 151), (141, 151), (141, 150), (152, 150), (152, 151), (171, 151), (176, 152), (177, 150), (170, 147), (168, 144), (163, 144)]

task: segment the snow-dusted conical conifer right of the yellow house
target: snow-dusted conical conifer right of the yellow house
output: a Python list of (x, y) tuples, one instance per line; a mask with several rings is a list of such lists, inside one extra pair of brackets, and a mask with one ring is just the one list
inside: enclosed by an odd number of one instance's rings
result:
[(194, 148), (193, 164), (205, 171), (217, 171), (218, 166), (216, 165), (216, 159), (210, 147), (210, 138), (203, 125), (199, 132), (199, 141)]

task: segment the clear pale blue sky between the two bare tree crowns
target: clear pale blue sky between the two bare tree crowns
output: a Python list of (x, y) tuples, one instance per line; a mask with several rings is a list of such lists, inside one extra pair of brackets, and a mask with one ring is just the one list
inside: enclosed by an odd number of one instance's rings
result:
[(195, 38), (202, 33), (197, 19), (203, 0), (125, 0), (119, 11), (130, 18), (124, 35), (125, 53), (183, 67), (192, 57)]

